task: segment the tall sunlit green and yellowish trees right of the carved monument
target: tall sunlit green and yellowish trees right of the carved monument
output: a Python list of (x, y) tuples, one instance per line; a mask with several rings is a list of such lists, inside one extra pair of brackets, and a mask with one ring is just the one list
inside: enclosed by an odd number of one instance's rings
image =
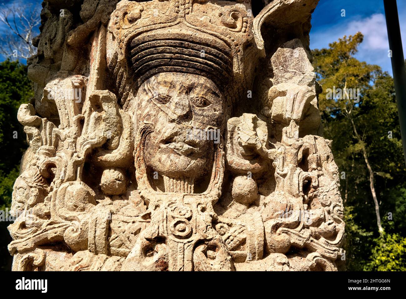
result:
[[(312, 52), (317, 79), (323, 85), (319, 104), (324, 136), (333, 140), (335, 161), (339, 171), (346, 173), (345, 179), (340, 176), (346, 267), (406, 270), (405, 246), (396, 245), (405, 237), (406, 169), (395, 88), (387, 72), (354, 58), (362, 41), (358, 32)], [(333, 87), (359, 89), (359, 102), (327, 97), (327, 89)], [(377, 214), (382, 219), (381, 232)]]

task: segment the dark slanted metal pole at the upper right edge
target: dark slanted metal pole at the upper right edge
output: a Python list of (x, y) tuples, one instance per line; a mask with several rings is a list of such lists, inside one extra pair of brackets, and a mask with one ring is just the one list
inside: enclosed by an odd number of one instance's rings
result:
[(406, 164), (406, 69), (402, 38), (400, 36), (399, 16), (397, 13), (396, 0), (383, 0), (383, 4), (385, 7), (386, 26), (388, 30), (389, 50), (392, 51), (393, 80), (395, 82), (397, 112), (399, 114), (403, 154)]

